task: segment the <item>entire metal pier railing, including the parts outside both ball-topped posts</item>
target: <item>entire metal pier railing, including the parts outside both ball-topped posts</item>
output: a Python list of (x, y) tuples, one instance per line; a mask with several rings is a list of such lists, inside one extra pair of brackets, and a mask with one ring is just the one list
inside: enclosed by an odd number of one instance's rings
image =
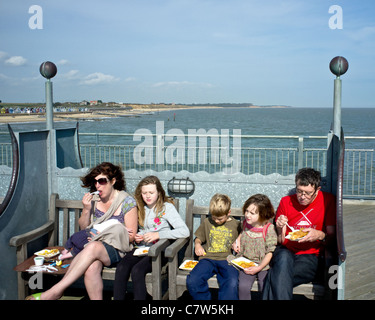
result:
[[(110, 161), (123, 170), (283, 176), (313, 167), (326, 175), (327, 136), (80, 133), (79, 139), (84, 167)], [(375, 137), (345, 140), (344, 197), (375, 199)], [(11, 166), (11, 151), (0, 143), (0, 165)]]

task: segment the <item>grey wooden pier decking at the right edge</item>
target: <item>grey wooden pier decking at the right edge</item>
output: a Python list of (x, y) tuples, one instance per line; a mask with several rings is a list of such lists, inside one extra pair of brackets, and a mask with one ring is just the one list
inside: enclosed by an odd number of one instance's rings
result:
[(344, 200), (345, 300), (375, 300), (375, 201)]

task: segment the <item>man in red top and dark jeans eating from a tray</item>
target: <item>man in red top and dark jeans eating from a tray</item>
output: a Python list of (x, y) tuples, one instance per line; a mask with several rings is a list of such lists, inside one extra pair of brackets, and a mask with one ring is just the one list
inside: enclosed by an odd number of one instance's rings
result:
[[(300, 169), (296, 193), (280, 201), (275, 217), (279, 246), (264, 284), (264, 300), (291, 300), (295, 286), (313, 281), (325, 243), (335, 238), (336, 200), (321, 191), (320, 181), (319, 171)], [(292, 229), (306, 235), (294, 239)]]

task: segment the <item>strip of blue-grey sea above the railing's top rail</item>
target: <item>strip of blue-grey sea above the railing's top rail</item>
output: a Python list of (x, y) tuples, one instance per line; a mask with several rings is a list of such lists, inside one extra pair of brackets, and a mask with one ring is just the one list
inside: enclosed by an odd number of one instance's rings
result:
[[(341, 126), (344, 136), (375, 136), (375, 108), (343, 108)], [(55, 122), (55, 128), (75, 126), (77, 121)], [(132, 117), (79, 120), (80, 133), (128, 133), (139, 129), (156, 132), (157, 124), (164, 133), (179, 129), (187, 134), (189, 129), (240, 129), (241, 135), (293, 135), (326, 136), (332, 127), (332, 108), (210, 108), (176, 109), (150, 112)], [(13, 131), (45, 129), (45, 122), (12, 123)], [(0, 124), (0, 132), (8, 132), (6, 124)], [(236, 131), (238, 132), (238, 131)], [(374, 148), (374, 140), (349, 141), (350, 147)]]

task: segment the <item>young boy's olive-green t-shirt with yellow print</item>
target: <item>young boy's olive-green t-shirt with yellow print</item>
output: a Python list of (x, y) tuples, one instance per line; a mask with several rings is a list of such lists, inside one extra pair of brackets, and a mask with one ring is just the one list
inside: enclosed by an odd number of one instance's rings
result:
[(231, 254), (232, 244), (241, 232), (240, 222), (232, 217), (217, 225), (210, 217), (206, 218), (195, 231), (195, 236), (202, 241), (206, 255), (200, 259), (226, 260)]

